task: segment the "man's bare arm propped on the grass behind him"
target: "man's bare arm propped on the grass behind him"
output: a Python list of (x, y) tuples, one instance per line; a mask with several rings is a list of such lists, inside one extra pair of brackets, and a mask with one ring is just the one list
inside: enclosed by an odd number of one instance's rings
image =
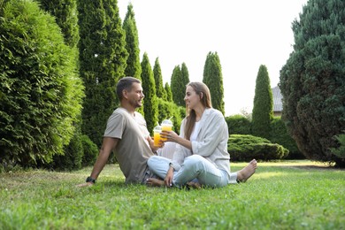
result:
[[(111, 154), (112, 149), (115, 149), (116, 145), (118, 144), (119, 139), (111, 138), (111, 137), (104, 137), (103, 144), (101, 149), (99, 150), (98, 157), (96, 159), (96, 163), (94, 168), (92, 169), (92, 173), (90, 175), (91, 179), (96, 180), (98, 175), (102, 172), (104, 165), (107, 163), (108, 158)], [(93, 185), (93, 182), (86, 182), (83, 184), (78, 185), (78, 187), (85, 187)]]

